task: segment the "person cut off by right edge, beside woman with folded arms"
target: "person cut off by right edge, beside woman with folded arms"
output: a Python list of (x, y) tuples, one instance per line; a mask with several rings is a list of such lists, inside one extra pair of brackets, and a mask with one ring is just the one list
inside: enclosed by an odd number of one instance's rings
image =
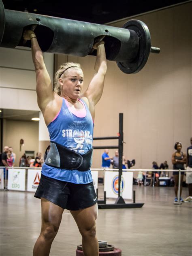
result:
[(189, 196), (183, 200), (185, 203), (192, 202), (192, 137), (191, 145), (187, 148), (187, 159), (186, 159), (187, 172), (186, 183), (188, 184)]

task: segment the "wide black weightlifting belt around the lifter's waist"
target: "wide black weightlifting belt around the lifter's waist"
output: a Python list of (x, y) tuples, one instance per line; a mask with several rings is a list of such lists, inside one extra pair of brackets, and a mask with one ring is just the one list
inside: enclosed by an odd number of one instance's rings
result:
[(77, 152), (63, 147), (62, 145), (50, 142), (50, 149), (45, 160), (45, 164), (59, 169), (88, 171), (91, 167), (92, 151), (80, 155)]

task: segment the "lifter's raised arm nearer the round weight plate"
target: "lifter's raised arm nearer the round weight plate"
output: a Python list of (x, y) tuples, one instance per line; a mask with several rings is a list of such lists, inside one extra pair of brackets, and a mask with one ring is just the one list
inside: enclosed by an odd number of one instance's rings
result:
[(96, 73), (86, 92), (82, 95), (82, 97), (86, 97), (88, 99), (90, 110), (94, 110), (94, 106), (102, 96), (105, 74), (107, 72), (107, 60), (105, 55), (104, 41), (95, 43), (93, 48), (97, 49), (96, 62), (94, 67)]

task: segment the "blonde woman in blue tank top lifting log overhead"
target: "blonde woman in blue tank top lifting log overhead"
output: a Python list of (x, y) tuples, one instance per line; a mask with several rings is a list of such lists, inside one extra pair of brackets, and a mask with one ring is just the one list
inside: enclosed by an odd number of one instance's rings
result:
[(102, 96), (107, 71), (104, 41), (93, 45), (97, 50), (96, 73), (87, 90), (82, 93), (80, 64), (68, 62), (56, 72), (53, 92), (36, 34), (26, 30), (23, 38), (31, 40), (37, 102), (51, 141), (35, 193), (35, 197), (41, 198), (42, 226), (33, 255), (49, 255), (62, 213), (68, 209), (82, 235), (84, 255), (98, 256), (98, 207), (90, 167), (95, 105)]

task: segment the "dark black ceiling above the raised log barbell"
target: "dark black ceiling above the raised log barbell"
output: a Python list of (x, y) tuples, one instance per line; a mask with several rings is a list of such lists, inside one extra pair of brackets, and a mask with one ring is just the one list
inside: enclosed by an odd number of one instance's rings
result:
[(103, 0), (90, 1), (89, 4), (83, 0), (77, 2), (69, 0), (2, 0), (2, 2), (5, 9), (104, 24), (187, 1)]

